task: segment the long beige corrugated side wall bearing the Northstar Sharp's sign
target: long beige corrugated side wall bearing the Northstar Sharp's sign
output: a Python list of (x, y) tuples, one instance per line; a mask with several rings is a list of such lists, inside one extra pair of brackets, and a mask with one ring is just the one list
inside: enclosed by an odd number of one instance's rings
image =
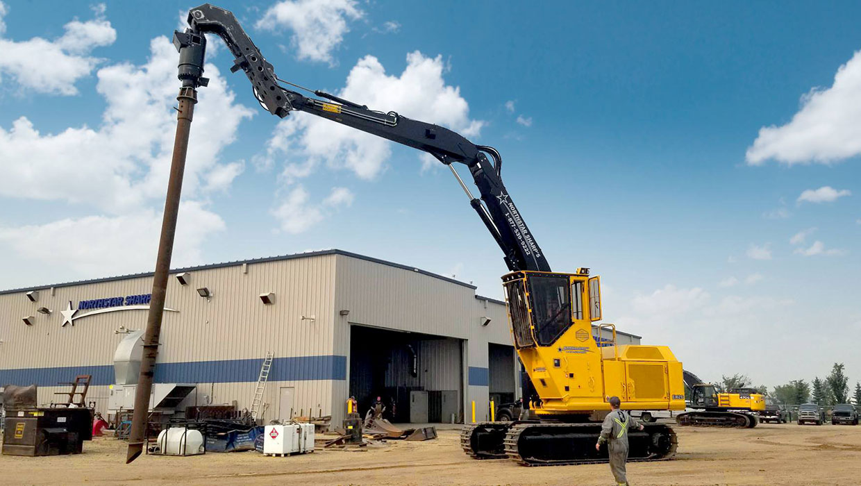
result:
[[(186, 363), (179, 366), (157, 366), (158, 374), (169, 372), (168, 378), (194, 377), (201, 379), (201, 388), (210, 389), (215, 381), (216, 403), (238, 400), (240, 407), (250, 406), (254, 382), (266, 351), (276, 356), (264, 402), (277, 407), (279, 384), (294, 385), (296, 403), (331, 408), (331, 376), (342, 375), (345, 359), (332, 356), (332, 322), (335, 290), (335, 255), (316, 255), (281, 261), (251, 263), (191, 272), (190, 283), (181, 286), (173, 277), (168, 283), (166, 306), (178, 312), (165, 312), (158, 363)], [(212, 298), (201, 298), (196, 289), (206, 286)], [(22, 383), (33, 382), (36, 373), (27, 368), (40, 368), (43, 383), (40, 402), (53, 400), (53, 391), (46, 384), (69, 381), (74, 374), (90, 372), (96, 384), (113, 383), (113, 358), (122, 335), (120, 326), (144, 329), (146, 311), (108, 312), (81, 317), (74, 326), (60, 327), (69, 301), (77, 308), (81, 300), (146, 294), (152, 290), (152, 277), (58, 286), (41, 289), (39, 300), (30, 302), (24, 292), (0, 295), (0, 370), (23, 370), (5, 376), (20, 377)], [(275, 305), (263, 305), (258, 295), (275, 292)], [(53, 311), (50, 315), (36, 312), (38, 307)], [(80, 311), (78, 314), (83, 314)], [(314, 315), (314, 321), (302, 316)], [(34, 316), (34, 325), (22, 323), (22, 317)], [(281, 357), (319, 357), (307, 360), (277, 360)], [(205, 362), (189, 364), (189, 362)], [(45, 368), (54, 369), (46, 374)], [(278, 369), (281, 366), (281, 369)], [(304, 367), (304, 368), (303, 368)], [(337, 368), (341, 371), (338, 372)], [(320, 369), (315, 369), (320, 368)], [(336, 368), (336, 369), (332, 369)], [(214, 373), (225, 376), (207, 378)], [(0, 371), (0, 376), (3, 372)], [(28, 379), (28, 376), (30, 377)], [(54, 379), (54, 377), (57, 379)], [(277, 378), (282, 377), (282, 380)], [(327, 378), (327, 379), (313, 379)], [(206, 380), (206, 381), (202, 381)], [(167, 381), (167, 380), (162, 380)], [(102, 394), (100, 389), (93, 393)], [(96, 397), (96, 395), (93, 395)]]

